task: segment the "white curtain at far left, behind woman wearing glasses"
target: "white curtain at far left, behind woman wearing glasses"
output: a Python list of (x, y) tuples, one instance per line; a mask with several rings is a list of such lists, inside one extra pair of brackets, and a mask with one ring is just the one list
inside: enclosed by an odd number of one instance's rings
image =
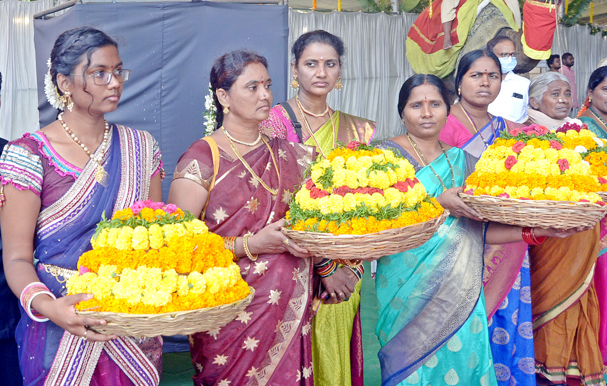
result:
[(53, 0), (0, 1), (2, 138), (15, 139), (27, 131), (38, 130), (33, 15), (52, 6)]

